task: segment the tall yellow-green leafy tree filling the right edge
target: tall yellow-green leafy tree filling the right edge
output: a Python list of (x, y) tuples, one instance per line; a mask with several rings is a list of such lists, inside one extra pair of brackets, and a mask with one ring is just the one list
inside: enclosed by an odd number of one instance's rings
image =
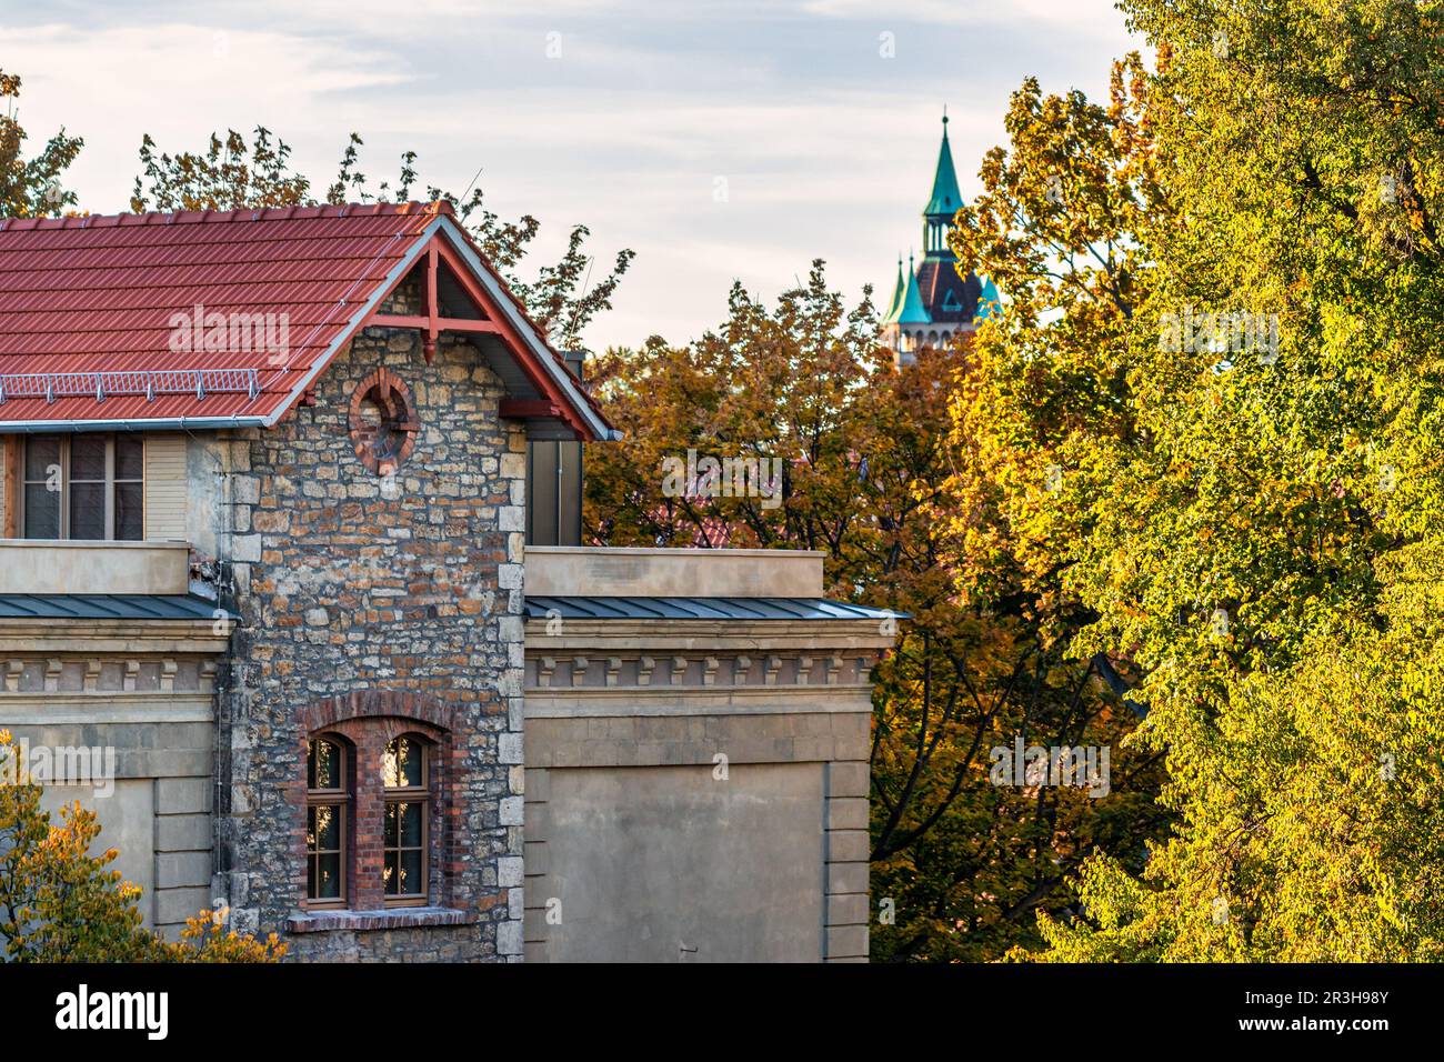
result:
[(1175, 825), (1087, 863), (1047, 957), (1437, 961), (1444, 16), (1125, 7), (1161, 199), (1040, 543), (1073, 653), (1139, 678)]

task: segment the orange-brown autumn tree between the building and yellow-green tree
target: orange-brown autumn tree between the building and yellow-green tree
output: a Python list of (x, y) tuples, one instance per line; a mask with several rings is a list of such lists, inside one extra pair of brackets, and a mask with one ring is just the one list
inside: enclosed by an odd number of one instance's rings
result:
[[(1157, 767), (1126, 753), (1105, 799), (989, 780), (991, 750), (1015, 735), (1116, 746), (1132, 717), (1043, 636), (1034, 595), (1002, 559), (992, 500), (959, 493), (956, 470), (978, 468), (952, 438), (950, 389), (967, 357), (927, 351), (895, 370), (869, 293), (849, 309), (817, 262), (771, 312), (734, 286), (719, 328), (687, 347), (653, 338), (608, 351), (591, 376), (625, 435), (588, 454), (593, 540), (820, 549), (830, 597), (911, 614), (875, 673), (872, 893), (891, 903), (874, 955), (884, 959), (1038, 945), (1032, 915), (1071, 903), (1069, 868), (1095, 847), (1141, 855), (1157, 828)], [(689, 449), (775, 459), (778, 493), (667, 490), (663, 462)], [(960, 549), (957, 511), (993, 524), (1002, 545)]]

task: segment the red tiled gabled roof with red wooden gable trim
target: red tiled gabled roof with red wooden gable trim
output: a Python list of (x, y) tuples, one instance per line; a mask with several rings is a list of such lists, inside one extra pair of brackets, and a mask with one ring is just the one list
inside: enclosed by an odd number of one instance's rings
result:
[(446, 202), (0, 220), (0, 432), (270, 428), (438, 260), (517, 407), (611, 438)]

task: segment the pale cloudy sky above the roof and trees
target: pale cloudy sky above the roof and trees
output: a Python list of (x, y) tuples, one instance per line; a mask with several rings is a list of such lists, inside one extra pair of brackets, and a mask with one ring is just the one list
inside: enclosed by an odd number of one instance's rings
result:
[(33, 153), (85, 147), (68, 185), (129, 210), (149, 133), (199, 150), (266, 126), (318, 194), (347, 137), (361, 170), (533, 214), (523, 275), (592, 231), (593, 277), (637, 251), (592, 350), (686, 342), (741, 280), (773, 299), (827, 262), (849, 299), (885, 301), (921, 241), (947, 107), (965, 197), (1004, 139), (1008, 95), (1100, 98), (1131, 38), (1110, 0), (0, 0), (0, 69), (19, 74)]

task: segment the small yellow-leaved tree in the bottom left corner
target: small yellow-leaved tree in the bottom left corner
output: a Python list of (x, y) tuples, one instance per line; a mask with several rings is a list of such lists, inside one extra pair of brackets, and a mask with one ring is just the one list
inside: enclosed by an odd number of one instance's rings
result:
[(59, 825), (40, 809), (19, 744), (0, 730), (0, 941), (14, 962), (274, 962), (286, 954), (274, 933), (264, 942), (227, 931), (224, 916), (202, 910), (179, 941), (142, 926), (140, 889), (107, 870), (118, 852), (92, 855), (101, 825), (72, 803)]

